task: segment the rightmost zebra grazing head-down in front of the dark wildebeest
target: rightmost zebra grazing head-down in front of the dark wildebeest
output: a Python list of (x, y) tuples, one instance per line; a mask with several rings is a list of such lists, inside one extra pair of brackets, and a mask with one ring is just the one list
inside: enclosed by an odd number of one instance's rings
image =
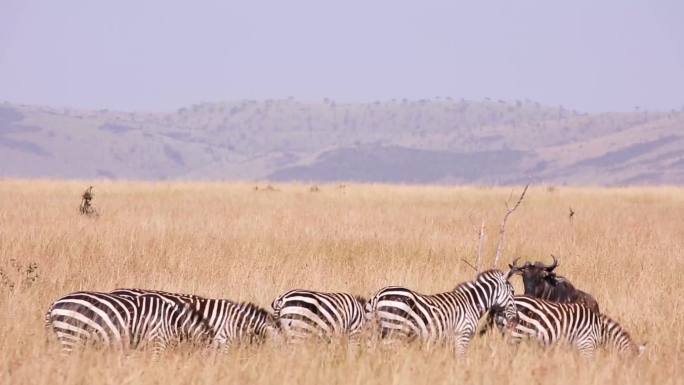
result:
[(504, 326), (499, 312), (494, 312), (497, 326), (515, 343), (524, 338), (536, 339), (546, 346), (566, 341), (588, 357), (601, 346), (635, 354), (645, 348), (635, 344), (619, 323), (583, 304), (519, 295), (515, 297), (515, 305), (517, 323)]

